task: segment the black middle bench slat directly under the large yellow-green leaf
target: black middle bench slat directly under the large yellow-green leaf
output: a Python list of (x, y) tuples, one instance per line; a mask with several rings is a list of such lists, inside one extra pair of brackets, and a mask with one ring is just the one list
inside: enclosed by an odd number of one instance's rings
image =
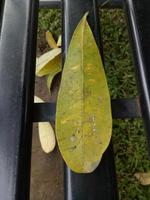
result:
[[(89, 24), (100, 46), (99, 16), (95, 0), (63, 1), (63, 60), (76, 25), (89, 11)], [(91, 174), (76, 174), (65, 166), (65, 200), (117, 200), (117, 184), (112, 144), (105, 152), (101, 164)]]

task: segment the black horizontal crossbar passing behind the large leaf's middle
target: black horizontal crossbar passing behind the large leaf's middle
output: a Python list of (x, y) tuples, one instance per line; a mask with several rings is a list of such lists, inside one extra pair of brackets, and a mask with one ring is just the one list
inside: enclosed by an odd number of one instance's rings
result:
[[(113, 119), (141, 117), (138, 99), (114, 99), (111, 104)], [(55, 103), (35, 103), (33, 105), (33, 122), (54, 122), (55, 113)]]

